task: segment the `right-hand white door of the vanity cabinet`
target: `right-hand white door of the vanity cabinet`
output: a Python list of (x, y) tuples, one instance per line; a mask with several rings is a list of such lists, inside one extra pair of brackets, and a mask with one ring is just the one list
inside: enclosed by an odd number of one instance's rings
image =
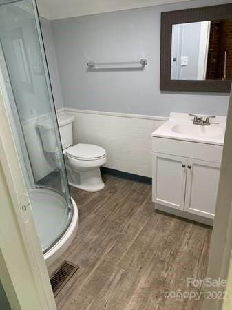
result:
[(213, 218), (219, 177), (220, 163), (188, 159), (184, 211)]

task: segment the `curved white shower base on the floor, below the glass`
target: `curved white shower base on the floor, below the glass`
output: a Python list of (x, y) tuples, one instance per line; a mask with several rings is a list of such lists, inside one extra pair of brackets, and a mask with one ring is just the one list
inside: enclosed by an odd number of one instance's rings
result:
[(71, 198), (74, 209), (67, 215), (65, 198), (50, 189), (31, 189), (29, 196), (43, 256), (46, 264), (50, 265), (74, 240), (78, 229), (78, 209)]

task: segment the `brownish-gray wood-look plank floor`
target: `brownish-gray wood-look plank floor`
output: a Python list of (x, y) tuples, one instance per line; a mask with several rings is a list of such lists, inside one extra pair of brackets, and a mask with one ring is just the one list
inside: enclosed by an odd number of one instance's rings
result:
[(71, 188), (80, 215), (78, 233), (49, 272), (63, 260), (80, 269), (56, 296), (57, 308), (200, 310), (203, 296), (166, 298), (165, 292), (200, 293), (187, 287), (187, 277), (206, 275), (211, 228), (156, 213), (151, 185), (103, 178), (101, 192)]

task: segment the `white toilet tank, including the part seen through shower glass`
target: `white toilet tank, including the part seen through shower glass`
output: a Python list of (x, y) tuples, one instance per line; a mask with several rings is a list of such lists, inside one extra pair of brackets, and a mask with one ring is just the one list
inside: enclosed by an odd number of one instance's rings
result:
[[(74, 116), (60, 114), (57, 116), (59, 131), (61, 134), (62, 148), (66, 149), (72, 145), (72, 123)], [(54, 125), (51, 118), (45, 118), (36, 124), (39, 129), (43, 149), (45, 152), (54, 153), (57, 151)]]

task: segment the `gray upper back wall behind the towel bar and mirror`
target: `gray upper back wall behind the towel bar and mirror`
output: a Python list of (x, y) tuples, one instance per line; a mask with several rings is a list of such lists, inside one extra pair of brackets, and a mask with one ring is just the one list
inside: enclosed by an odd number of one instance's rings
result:
[[(194, 0), (52, 21), (65, 107), (168, 116), (226, 115), (228, 94), (160, 92), (160, 12), (230, 1)], [(88, 61), (148, 59), (145, 70), (88, 72)]]

